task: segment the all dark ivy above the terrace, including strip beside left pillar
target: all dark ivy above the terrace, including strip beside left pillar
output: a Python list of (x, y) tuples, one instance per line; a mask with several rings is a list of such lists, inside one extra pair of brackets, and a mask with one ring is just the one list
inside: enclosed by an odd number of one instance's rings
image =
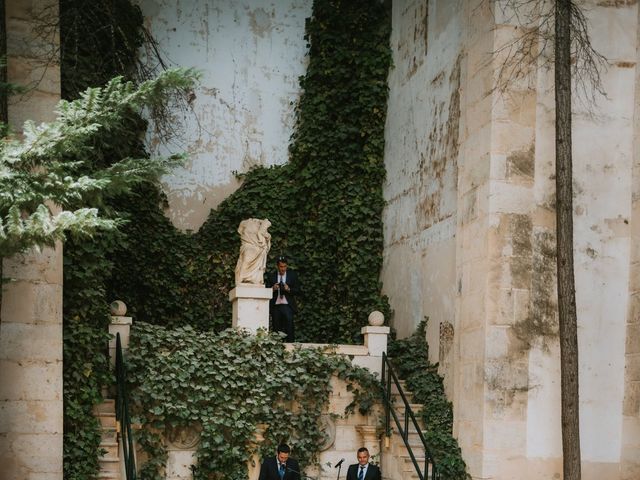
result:
[[(61, 3), (66, 98), (117, 74), (141, 74), (131, 61), (146, 38), (137, 7), (127, 0), (118, 8), (107, 1), (82, 5)], [(97, 473), (100, 435), (91, 409), (110, 378), (99, 353), (108, 302), (124, 300), (138, 322), (201, 331), (230, 326), (236, 229), (245, 218), (269, 218), (272, 259), (288, 254), (301, 274), (298, 340), (350, 343), (359, 340), (372, 310), (388, 317), (378, 280), (388, 37), (384, 4), (316, 1), (307, 22), (309, 65), (301, 78), (289, 163), (250, 171), (195, 234), (173, 227), (164, 195), (149, 184), (103, 205), (106, 213), (128, 219), (120, 234), (66, 245), (65, 478)], [(100, 61), (94, 67), (95, 58)], [(96, 166), (144, 155), (145, 126), (132, 115), (117, 135), (106, 132), (95, 145)]]

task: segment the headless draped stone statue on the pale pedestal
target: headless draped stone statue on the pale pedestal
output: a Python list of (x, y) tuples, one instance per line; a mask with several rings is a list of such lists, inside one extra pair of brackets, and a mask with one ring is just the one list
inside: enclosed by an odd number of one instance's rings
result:
[(250, 283), (264, 285), (267, 254), (271, 248), (271, 234), (267, 229), (271, 222), (266, 218), (249, 218), (240, 222), (240, 256), (236, 265), (236, 285)]

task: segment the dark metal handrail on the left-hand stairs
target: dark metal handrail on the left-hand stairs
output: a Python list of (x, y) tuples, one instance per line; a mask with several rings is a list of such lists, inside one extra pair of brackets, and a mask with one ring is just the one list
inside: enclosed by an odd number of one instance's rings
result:
[(131, 417), (129, 415), (129, 397), (127, 393), (127, 367), (122, 355), (120, 334), (116, 334), (116, 421), (118, 433), (122, 440), (126, 480), (136, 480), (136, 459), (131, 434)]

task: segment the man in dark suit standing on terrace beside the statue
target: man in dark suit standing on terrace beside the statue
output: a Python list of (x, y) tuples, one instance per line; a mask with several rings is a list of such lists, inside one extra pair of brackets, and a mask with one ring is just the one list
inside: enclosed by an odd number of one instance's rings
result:
[(293, 315), (298, 311), (296, 297), (300, 293), (298, 275), (287, 269), (287, 258), (278, 257), (277, 270), (267, 275), (265, 286), (273, 289), (269, 302), (269, 311), (273, 320), (273, 329), (287, 335), (286, 341), (294, 341)]

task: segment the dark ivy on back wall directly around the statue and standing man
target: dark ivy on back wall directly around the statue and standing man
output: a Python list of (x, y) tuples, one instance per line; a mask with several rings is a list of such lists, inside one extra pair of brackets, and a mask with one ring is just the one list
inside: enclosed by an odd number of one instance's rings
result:
[(270, 266), (285, 253), (300, 273), (297, 340), (357, 342), (372, 310), (389, 316), (379, 281), (389, 13), (377, 0), (314, 2), (289, 163), (244, 175), (197, 233), (173, 228), (151, 189), (117, 205), (135, 221), (109, 291), (136, 319), (227, 328), (236, 230), (249, 217), (272, 223)]

